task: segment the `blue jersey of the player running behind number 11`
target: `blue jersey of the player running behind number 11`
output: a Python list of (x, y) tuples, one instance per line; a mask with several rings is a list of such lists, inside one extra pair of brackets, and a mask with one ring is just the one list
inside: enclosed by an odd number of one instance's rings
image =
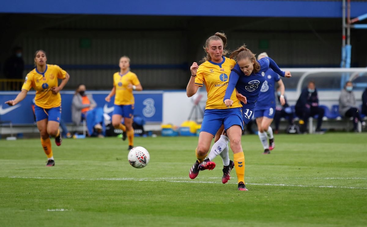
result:
[(256, 109), (275, 107), (275, 83), (279, 80), (280, 76), (272, 69), (265, 72), (265, 82), (261, 86)]

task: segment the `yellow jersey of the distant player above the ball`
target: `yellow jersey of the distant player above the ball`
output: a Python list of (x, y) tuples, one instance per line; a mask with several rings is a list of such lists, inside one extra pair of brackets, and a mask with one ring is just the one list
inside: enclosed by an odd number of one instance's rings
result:
[(140, 84), (138, 76), (135, 73), (128, 71), (123, 75), (119, 72), (113, 74), (113, 86), (116, 89), (116, 105), (133, 105), (135, 103), (134, 96), (132, 95), (132, 89), (127, 87), (129, 84), (135, 86)]

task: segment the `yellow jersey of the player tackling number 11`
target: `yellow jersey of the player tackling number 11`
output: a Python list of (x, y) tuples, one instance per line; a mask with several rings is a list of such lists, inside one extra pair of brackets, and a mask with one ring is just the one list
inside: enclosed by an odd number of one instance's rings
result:
[[(197, 69), (195, 85), (201, 87), (205, 84), (208, 93), (205, 109), (227, 109), (223, 98), (228, 87), (230, 71), (236, 65), (236, 61), (226, 57), (222, 58), (221, 63), (205, 61)], [(233, 100), (233, 105), (230, 108), (242, 107), (236, 98), (235, 90), (233, 90), (230, 99)]]

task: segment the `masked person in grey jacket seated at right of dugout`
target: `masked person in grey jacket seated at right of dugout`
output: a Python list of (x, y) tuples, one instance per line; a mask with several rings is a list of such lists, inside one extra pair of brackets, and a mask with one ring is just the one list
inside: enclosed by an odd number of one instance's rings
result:
[(362, 126), (366, 126), (366, 122), (363, 122), (359, 109), (356, 105), (356, 97), (353, 93), (353, 83), (348, 81), (345, 83), (344, 89), (340, 93), (339, 97), (339, 113), (343, 117), (353, 117), (353, 130), (357, 130), (357, 123), (360, 121)]

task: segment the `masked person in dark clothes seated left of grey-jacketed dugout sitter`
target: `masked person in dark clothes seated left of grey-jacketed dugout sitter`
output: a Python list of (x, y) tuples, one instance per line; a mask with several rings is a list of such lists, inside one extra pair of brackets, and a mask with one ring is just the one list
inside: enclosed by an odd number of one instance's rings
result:
[(315, 82), (308, 82), (308, 86), (302, 90), (295, 105), (295, 111), (296, 115), (304, 121), (304, 125), (301, 126), (302, 133), (307, 131), (308, 118), (315, 115), (318, 115), (316, 133), (323, 133), (321, 124), (325, 110), (319, 107), (319, 97), (317, 96)]

